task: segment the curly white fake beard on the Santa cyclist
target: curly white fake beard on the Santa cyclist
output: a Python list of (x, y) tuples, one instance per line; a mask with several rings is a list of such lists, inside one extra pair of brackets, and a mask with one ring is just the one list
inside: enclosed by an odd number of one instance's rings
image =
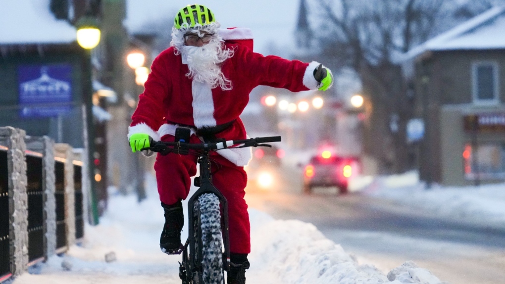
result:
[(187, 59), (188, 78), (200, 83), (208, 83), (211, 89), (221, 87), (231, 90), (231, 81), (224, 77), (219, 66), (222, 62), (233, 56), (232, 50), (221, 48), (221, 41), (212, 39), (204, 46), (182, 46), (182, 56)]

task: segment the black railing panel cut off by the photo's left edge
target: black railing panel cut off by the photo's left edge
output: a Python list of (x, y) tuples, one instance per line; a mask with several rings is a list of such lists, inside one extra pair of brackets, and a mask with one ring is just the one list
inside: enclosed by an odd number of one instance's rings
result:
[(7, 169), (7, 151), (0, 149), (0, 281), (10, 275), (9, 246), (9, 175)]

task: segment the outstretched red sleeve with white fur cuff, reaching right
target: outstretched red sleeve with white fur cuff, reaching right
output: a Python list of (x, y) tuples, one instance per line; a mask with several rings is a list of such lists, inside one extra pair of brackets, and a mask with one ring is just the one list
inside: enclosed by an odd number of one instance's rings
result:
[[(275, 55), (264, 56), (245, 47), (235, 49), (234, 56), (243, 64), (247, 80), (256, 80), (257, 85), (285, 88), (292, 92), (316, 89), (313, 71), (317, 63), (287, 60)], [(241, 68), (241, 66), (240, 66)], [(309, 70), (310, 69), (310, 70)]]

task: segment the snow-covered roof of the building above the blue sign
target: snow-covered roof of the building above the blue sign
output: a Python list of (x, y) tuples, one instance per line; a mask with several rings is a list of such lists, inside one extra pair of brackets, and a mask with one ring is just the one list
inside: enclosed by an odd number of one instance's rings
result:
[(70, 43), (76, 29), (57, 20), (49, 11), (49, 0), (1, 0), (0, 45)]

